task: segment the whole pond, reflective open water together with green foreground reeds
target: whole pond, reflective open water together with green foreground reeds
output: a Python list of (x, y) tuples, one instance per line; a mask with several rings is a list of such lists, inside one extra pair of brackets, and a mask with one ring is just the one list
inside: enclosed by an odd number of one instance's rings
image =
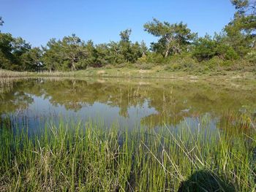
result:
[(215, 191), (255, 188), (253, 82), (4, 79), (0, 96), (0, 186), (12, 191), (178, 191), (207, 175)]

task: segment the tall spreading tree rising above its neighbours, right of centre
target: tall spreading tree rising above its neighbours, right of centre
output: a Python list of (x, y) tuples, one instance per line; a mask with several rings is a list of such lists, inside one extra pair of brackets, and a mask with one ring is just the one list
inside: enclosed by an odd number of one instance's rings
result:
[(166, 58), (170, 54), (178, 54), (187, 50), (196, 34), (192, 33), (186, 24), (160, 22), (155, 19), (144, 25), (149, 34), (159, 37), (157, 43), (151, 43), (152, 50), (161, 53)]

